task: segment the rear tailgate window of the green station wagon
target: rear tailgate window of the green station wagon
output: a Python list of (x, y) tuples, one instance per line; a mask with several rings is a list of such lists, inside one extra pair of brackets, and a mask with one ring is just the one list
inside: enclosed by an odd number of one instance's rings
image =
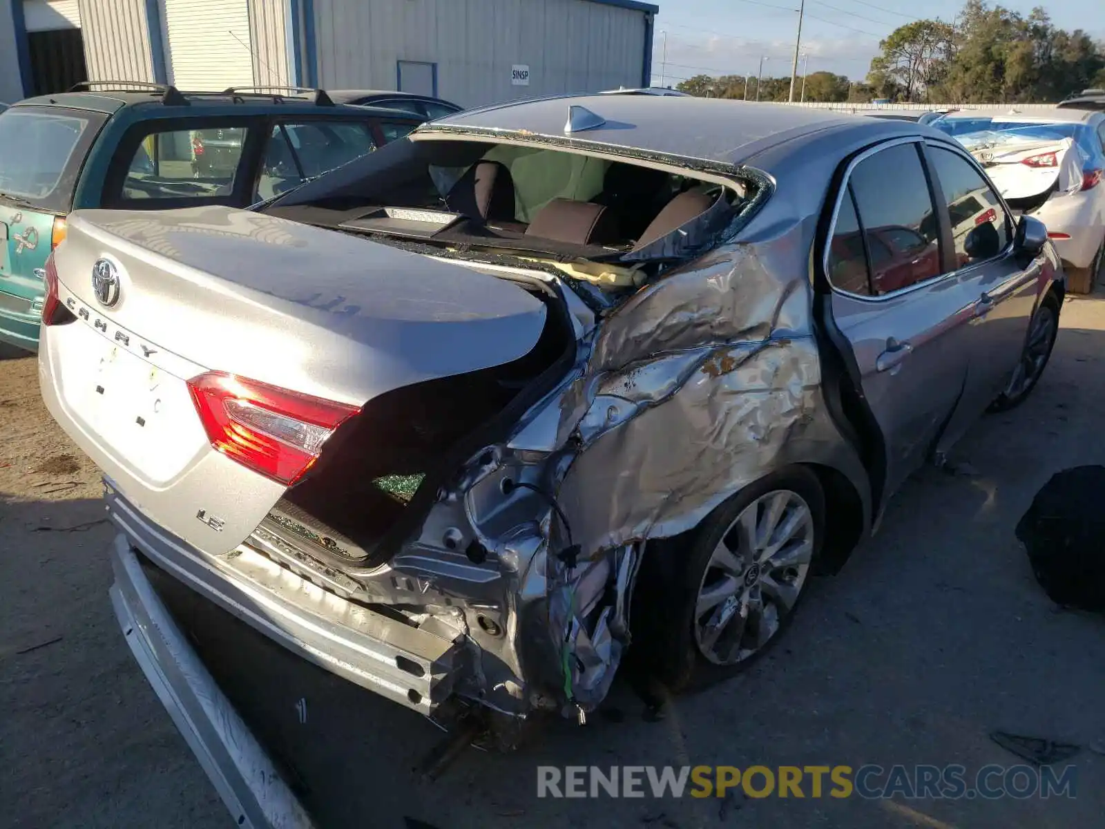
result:
[(0, 197), (66, 212), (77, 174), (105, 116), (61, 107), (0, 113)]

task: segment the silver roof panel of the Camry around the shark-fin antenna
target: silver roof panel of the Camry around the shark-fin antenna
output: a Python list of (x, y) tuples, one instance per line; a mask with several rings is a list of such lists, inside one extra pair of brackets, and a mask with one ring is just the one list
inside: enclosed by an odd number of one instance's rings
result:
[[(565, 133), (569, 107), (582, 106), (606, 119), (598, 127)], [(446, 115), (424, 124), (411, 138), (448, 132), (502, 135), (559, 144), (604, 144), (737, 165), (759, 150), (827, 129), (908, 134), (908, 122), (856, 118), (803, 106), (666, 95), (581, 95), (520, 101)], [(922, 127), (920, 129), (924, 129)]]

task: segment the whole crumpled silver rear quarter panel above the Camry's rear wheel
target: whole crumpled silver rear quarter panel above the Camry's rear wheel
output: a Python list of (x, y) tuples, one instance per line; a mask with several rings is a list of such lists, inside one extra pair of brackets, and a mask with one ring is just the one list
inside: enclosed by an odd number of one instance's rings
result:
[(693, 527), (813, 423), (821, 372), (797, 250), (789, 233), (720, 248), (599, 329), (561, 421), (582, 444), (558, 496), (585, 555)]

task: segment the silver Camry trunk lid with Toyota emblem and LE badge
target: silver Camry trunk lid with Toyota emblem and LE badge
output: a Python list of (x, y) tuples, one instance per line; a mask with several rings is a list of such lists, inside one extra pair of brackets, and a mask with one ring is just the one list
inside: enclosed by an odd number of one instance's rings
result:
[(189, 379), (220, 371), (359, 407), (517, 359), (546, 316), (462, 264), (228, 208), (77, 211), (55, 263), (76, 318), (42, 329), (48, 408), (131, 503), (215, 555), (287, 487), (212, 447)]

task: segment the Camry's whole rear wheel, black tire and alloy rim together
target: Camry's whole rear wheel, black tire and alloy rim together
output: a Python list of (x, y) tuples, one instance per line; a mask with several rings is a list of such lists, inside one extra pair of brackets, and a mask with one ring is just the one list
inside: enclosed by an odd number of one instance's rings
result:
[(702, 688), (762, 655), (804, 595), (823, 535), (820, 483), (792, 468), (714, 511), (690, 548), (646, 558), (654, 601), (634, 612), (652, 622), (641, 644), (659, 679), (673, 691)]

